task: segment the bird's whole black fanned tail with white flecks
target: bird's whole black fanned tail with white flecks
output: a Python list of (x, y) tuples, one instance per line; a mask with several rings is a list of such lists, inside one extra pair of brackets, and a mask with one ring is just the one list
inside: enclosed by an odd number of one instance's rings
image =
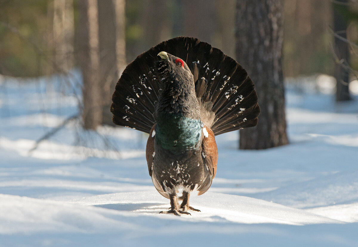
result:
[(182, 58), (190, 67), (202, 106), (202, 121), (215, 135), (257, 124), (260, 107), (245, 69), (221, 50), (191, 37), (164, 41), (126, 67), (112, 97), (115, 124), (150, 132), (160, 90), (154, 71), (160, 51)]

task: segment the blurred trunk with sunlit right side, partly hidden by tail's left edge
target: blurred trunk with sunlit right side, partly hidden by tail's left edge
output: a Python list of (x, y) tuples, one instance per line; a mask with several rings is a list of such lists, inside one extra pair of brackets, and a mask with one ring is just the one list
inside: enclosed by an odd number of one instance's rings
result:
[(113, 125), (110, 106), (121, 71), (126, 64), (124, 0), (98, 1), (102, 124)]

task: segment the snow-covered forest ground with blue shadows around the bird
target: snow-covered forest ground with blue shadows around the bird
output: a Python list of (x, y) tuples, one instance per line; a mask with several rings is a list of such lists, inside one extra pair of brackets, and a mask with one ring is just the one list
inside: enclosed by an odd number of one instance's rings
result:
[(73, 119), (33, 150), (78, 112), (79, 80), (0, 78), (1, 247), (358, 246), (358, 97), (335, 104), (329, 77), (287, 90), (290, 145), (217, 136), (216, 178), (190, 198), (202, 212), (181, 217), (159, 214), (144, 133)]

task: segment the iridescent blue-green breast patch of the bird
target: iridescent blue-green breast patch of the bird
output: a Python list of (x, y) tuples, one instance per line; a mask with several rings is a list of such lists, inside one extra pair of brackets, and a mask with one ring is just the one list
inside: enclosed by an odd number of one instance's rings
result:
[(164, 112), (157, 117), (155, 141), (167, 150), (188, 150), (196, 148), (202, 133), (199, 119), (182, 114)]

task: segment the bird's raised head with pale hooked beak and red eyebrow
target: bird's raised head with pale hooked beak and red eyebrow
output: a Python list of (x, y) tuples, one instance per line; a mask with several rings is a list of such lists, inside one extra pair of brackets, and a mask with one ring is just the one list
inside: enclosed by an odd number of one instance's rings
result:
[(156, 61), (155, 67), (162, 81), (190, 81), (190, 79), (193, 78), (193, 74), (188, 65), (181, 58), (165, 51), (159, 52), (158, 56), (160, 56), (161, 59)]

